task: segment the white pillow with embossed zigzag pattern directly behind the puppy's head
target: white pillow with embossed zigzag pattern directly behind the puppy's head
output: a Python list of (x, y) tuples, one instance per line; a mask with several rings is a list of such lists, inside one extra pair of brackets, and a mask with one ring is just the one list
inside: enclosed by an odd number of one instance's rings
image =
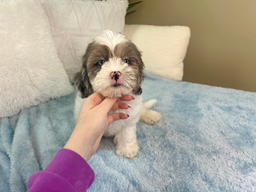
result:
[(41, 0), (51, 33), (69, 77), (81, 67), (81, 56), (103, 30), (123, 32), (128, 0)]

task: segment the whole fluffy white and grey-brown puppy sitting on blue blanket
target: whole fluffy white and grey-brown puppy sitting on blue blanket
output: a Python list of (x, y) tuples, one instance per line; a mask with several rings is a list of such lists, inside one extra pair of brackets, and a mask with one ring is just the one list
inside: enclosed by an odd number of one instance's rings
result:
[(94, 92), (105, 97), (121, 97), (129, 94), (135, 98), (132, 101), (122, 101), (131, 108), (109, 113), (123, 112), (130, 117), (114, 121), (103, 135), (114, 136), (117, 154), (130, 159), (139, 151), (136, 136), (136, 124), (139, 119), (149, 124), (161, 119), (160, 113), (148, 110), (156, 100), (142, 103), (143, 70), (141, 52), (135, 44), (121, 33), (105, 30), (87, 46), (82, 57), (81, 70), (73, 78), (78, 90), (75, 98), (75, 120), (78, 118), (84, 98)]

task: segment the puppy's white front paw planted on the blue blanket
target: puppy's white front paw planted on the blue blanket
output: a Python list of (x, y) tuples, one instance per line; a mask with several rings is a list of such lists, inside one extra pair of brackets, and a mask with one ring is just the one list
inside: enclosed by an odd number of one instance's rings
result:
[(117, 145), (117, 154), (129, 159), (134, 158), (139, 152), (139, 146), (137, 140), (131, 144), (122, 146)]

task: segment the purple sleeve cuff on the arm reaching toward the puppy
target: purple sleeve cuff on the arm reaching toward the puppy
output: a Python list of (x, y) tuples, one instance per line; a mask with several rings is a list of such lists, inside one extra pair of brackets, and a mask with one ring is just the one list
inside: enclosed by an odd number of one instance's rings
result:
[(90, 165), (69, 149), (60, 149), (44, 171), (32, 174), (28, 180), (28, 192), (86, 191), (94, 182)]

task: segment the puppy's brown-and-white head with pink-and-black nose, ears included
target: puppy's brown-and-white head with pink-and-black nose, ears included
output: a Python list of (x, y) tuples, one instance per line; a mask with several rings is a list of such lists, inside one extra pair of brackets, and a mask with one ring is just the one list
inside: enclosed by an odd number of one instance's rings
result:
[(121, 33), (105, 30), (87, 46), (74, 82), (82, 98), (94, 92), (105, 97), (121, 97), (131, 92), (140, 95), (143, 69), (135, 44)]

